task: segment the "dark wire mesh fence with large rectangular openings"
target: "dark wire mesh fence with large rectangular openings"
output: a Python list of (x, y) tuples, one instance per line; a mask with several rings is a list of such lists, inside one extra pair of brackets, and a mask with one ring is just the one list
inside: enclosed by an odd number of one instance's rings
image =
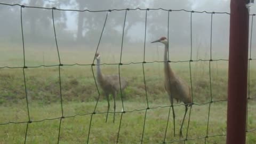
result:
[[(213, 97), (214, 95), (212, 94), (212, 63), (214, 61), (228, 61), (228, 59), (213, 59), (212, 58), (212, 27), (213, 27), (213, 17), (217, 17), (215, 16), (215, 14), (225, 14), (225, 15), (229, 15), (229, 13), (227, 12), (206, 12), (206, 11), (187, 11), (187, 10), (166, 10), (166, 9), (140, 9), (140, 8), (137, 8), (137, 9), (113, 9), (113, 10), (100, 10), (100, 11), (92, 11), (92, 10), (67, 10), (67, 9), (58, 9), (56, 7), (51, 7), (51, 8), (48, 8), (48, 7), (36, 7), (36, 6), (25, 6), (25, 5), (20, 5), (20, 4), (5, 4), (5, 3), (0, 3), (0, 5), (5, 5), (5, 6), (19, 6), (20, 7), (20, 24), (21, 24), (21, 37), (22, 37), (22, 49), (23, 49), (23, 66), (22, 67), (10, 67), (10, 66), (3, 66), (3, 67), (0, 67), (0, 69), (22, 69), (22, 75), (23, 75), (23, 83), (24, 83), (24, 91), (25, 91), (25, 94), (26, 94), (26, 109), (27, 109), (27, 121), (22, 121), (22, 122), (15, 122), (15, 121), (10, 121), (10, 122), (0, 122), (0, 127), (3, 126), (3, 125), (11, 125), (11, 124), (20, 124), (20, 123), (25, 123), (26, 124), (26, 133), (25, 133), (25, 136), (24, 136), (24, 143), (27, 142), (27, 138), (28, 138), (28, 130), (29, 130), (29, 126), (33, 123), (37, 123), (37, 122), (43, 122), (43, 121), (52, 121), (52, 120), (58, 120), (59, 121), (59, 126), (58, 126), (58, 140), (57, 143), (60, 142), (61, 140), (61, 137), (60, 137), (60, 134), (62, 132), (62, 121), (63, 119), (66, 119), (66, 118), (75, 118), (77, 116), (90, 116), (90, 121), (89, 123), (86, 123), (87, 125), (89, 125), (89, 129), (87, 130), (87, 143), (90, 143), (90, 134), (91, 134), (91, 131), (93, 129), (93, 126), (92, 126), (92, 122), (93, 122), (93, 117), (95, 115), (103, 115), (103, 114), (107, 114), (107, 113), (110, 113), (110, 114), (120, 114), (120, 119), (119, 119), (119, 126), (118, 126), (118, 131), (115, 135), (115, 141), (116, 143), (118, 142), (123, 142), (123, 141), (120, 141), (119, 140), (119, 136), (121, 135), (121, 130), (122, 130), (122, 124), (123, 124), (123, 119), (124, 119), (124, 115), (127, 114), (127, 113), (134, 113), (135, 111), (143, 111), (145, 112), (145, 115), (143, 116), (143, 127), (142, 127), (142, 135), (141, 135), (141, 139), (140, 139), (140, 143), (143, 143), (143, 140), (145, 140), (145, 129), (147, 127), (147, 118), (149, 117), (148, 116), (148, 110), (149, 109), (161, 109), (161, 108), (169, 108), (169, 113), (167, 113), (167, 119), (166, 119), (166, 127), (165, 127), (165, 133), (164, 133), (164, 137), (162, 138), (162, 141), (159, 141), (159, 143), (175, 143), (175, 142), (184, 142), (186, 143), (187, 141), (190, 141), (190, 140), (197, 140), (197, 139), (202, 139), (204, 140), (204, 143), (207, 143), (207, 139), (209, 138), (212, 138), (212, 137), (225, 137), (226, 136), (226, 133), (219, 133), (219, 134), (214, 134), (214, 135), (210, 135), (209, 134), (209, 122), (210, 122), (210, 114), (212, 113), (212, 110), (211, 110), (211, 107), (213, 105), (213, 103), (217, 103), (217, 102), (222, 102), (222, 101), (227, 101), (226, 99), (223, 99), (223, 100), (213, 100)], [(22, 21), (22, 11), (23, 9), (47, 9), (47, 10), (51, 10), (52, 12), (52, 26), (53, 26), (53, 30), (54, 30), (54, 37), (55, 37), (55, 46), (56, 46), (56, 49), (57, 49), (57, 52), (58, 52), (58, 60), (59, 60), (59, 63), (56, 64), (56, 65), (39, 65), (39, 66), (28, 66), (26, 65), (26, 46), (24, 44), (24, 39), (26, 37), (23, 36), (23, 21)], [(144, 34), (144, 44), (143, 44), (143, 61), (140, 61), (140, 62), (129, 62), (129, 63), (123, 63), (122, 62), (122, 53), (123, 53), (123, 41), (124, 41), (124, 30), (125, 30), (125, 23), (126, 23), (126, 15), (127, 13), (129, 13), (129, 11), (134, 11), (134, 10), (140, 10), (140, 11), (145, 11), (145, 34)], [(170, 13), (171, 12), (180, 12), (180, 11), (183, 11), (183, 12), (187, 12), (187, 13), (190, 13), (190, 58), (188, 60), (184, 60), (184, 61), (170, 61), (168, 60), (167, 62), (169, 63), (181, 63), (181, 62), (187, 62), (189, 63), (189, 80), (190, 80), (190, 89), (191, 89), (191, 96), (192, 96), (192, 103), (191, 105), (195, 105), (195, 106), (203, 106), (203, 105), (206, 105), (208, 107), (208, 110), (207, 110), (207, 120), (206, 120), (206, 132), (205, 132), (205, 135), (204, 137), (192, 137), (191, 138), (191, 134), (190, 134), (190, 137), (189, 137), (189, 126), (190, 126), (190, 118), (191, 118), (191, 109), (193, 108), (193, 106), (191, 106), (188, 110), (188, 123), (187, 123), (187, 128), (186, 128), (186, 134), (185, 134), (185, 137), (184, 138), (181, 138), (181, 139), (175, 139), (173, 138), (172, 140), (166, 140), (166, 137), (167, 137), (167, 131), (171, 131), (171, 130), (168, 130), (168, 127), (170, 125), (170, 123), (172, 122), (171, 121), (171, 108), (173, 107), (179, 107), (179, 106), (184, 106), (183, 103), (180, 103), (180, 104), (177, 104), (177, 105), (168, 105), (168, 106), (156, 106), (156, 107), (150, 107), (149, 105), (149, 101), (148, 101), (148, 90), (147, 90), (147, 83), (146, 83), (146, 75), (145, 75), (145, 65), (146, 63), (163, 63), (163, 62), (166, 62), (166, 61), (146, 61), (145, 60), (145, 49), (146, 49), (146, 37), (147, 37), (147, 14), (148, 14), (148, 11), (158, 11), (158, 10), (162, 10), (162, 11), (166, 11), (168, 13), (168, 23), (167, 23), (167, 39), (169, 41), (169, 34), (170, 34), (170, 31), (169, 31), (169, 18), (170, 18)], [(59, 47), (58, 47), (58, 39), (57, 39), (57, 34), (56, 34), (56, 31), (55, 31), (55, 25), (54, 25), (54, 12), (55, 11), (76, 11), (76, 12), (90, 12), (90, 13), (94, 13), (94, 12), (106, 12), (106, 17), (105, 17), (105, 21), (103, 23), (103, 27), (102, 27), (102, 30), (101, 30), (101, 35), (99, 37), (99, 41), (98, 41), (98, 45), (97, 45), (97, 49), (95, 50), (95, 54), (98, 52), (98, 49), (99, 49), (99, 45), (101, 43), (101, 38), (102, 38), (102, 35), (103, 35), (103, 31), (105, 30), (105, 26), (106, 26), (106, 23), (107, 23), (107, 19), (108, 19), (108, 15), (111, 14), (112, 11), (124, 11), (125, 14), (124, 14), (124, 22), (123, 22), (123, 32), (122, 32), (122, 45), (121, 45), (121, 54), (120, 54), (120, 58), (119, 58), (119, 62), (118, 63), (102, 63), (100, 65), (116, 65), (118, 66), (118, 75), (119, 75), (119, 85), (120, 85), (120, 92), (121, 92), (121, 101), (122, 101), (122, 111), (117, 111), (117, 112), (111, 112), (111, 111), (104, 111), (104, 112), (98, 112), (96, 109), (97, 109), (97, 106), (98, 106), (98, 102), (99, 102), (99, 99), (101, 97), (101, 92), (100, 92), (100, 88), (99, 88), (99, 84), (97, 83), (97, 77), (95, 76), (95, 72), (94, 72), (94, 67), (97, 66), (97, 64), (94, 64), (94, 60), (92, 60), (92, 63), (73, 63), (73, 64), (65, 64), (65, 63), (62, 63), (61, 61), (61, 57), (60, 57), (60, 52), (59, 52)], [(193, 57), (192, 57), (192, 54), (193, 54), (193, 40), (192, 40), (192, 37), (193, 37), (193, 14), (194, 13), (206, 13), (206, 14), (209, 14), (210, 17), (211, 17), (211, 21), (210, 21), (210, 59), (198, 59), (198, 60), (193, 60)], [(250, 78), (252, 76), (252, 74), (250, 73), (250, 63), (251, 61), (253, 60), (256, 60), (256, 58), (253, 58), (252, 57), (252, 33), (253, 33), (253, 26), (254, 26), (254, 23), (253, 23), (253, 18), (254, 18), (255, 14), (251, 14), (250, 15), (250, 18), (251, 18), (251, 28), (250, 28), (250, 31), (251, 31), (251, 35), (250, 35), (250, 51), (249, 51), (249, 70), (248, 70), (248, 97), (247, 97), (247, 103), (250, 102), (250, 101), (253, 101), (253, 99), (255, 99), (255, 96), (254, 95), (251, 95), (251, 87), (250, 87)], [(169, 53), (168, 53), (168, 59), (169, 59)], [(198, 61), (203, 61), (203, 62), (209, 62), (209, 85), (210, 85), (210, 100), (207, 101), (207, 102), (204, 102), (204, 103), (196, 103), (194, 102), (194, 98), (196, 97), (196, 95), (193, 93), (193, 76), (192, 76), (192, 67), (191, 67), (191, 63), (193, 62), (198, 62)], [(145, 101), (146, 101), (146, 104), (147, 106), (145, 108), (142, 108), (142, 109), (133, 109), (133, 110), (126, 110), (125, 109), (125, 106), (124, 106), (124, 102), (123, 102), (123, 92), (121, 90), (121, 79), (120, 79), (120, 75), (121, 75), (121, 67), (123, 65), (134, 65), (134, 64), (138, 64), (138, 65), (142, 65), (142, 72), (143, 72), (143, 82), (144, 82), (144, 87), (145, 87)], [(76, 115), (72, 115), (72, 116), (65, 116), (65, 114), (63, 113), (63, 100), (62, 100), (62, 91), (63, 91), (63, 86), (62, 86), (62, 71), (61, 71), (61, 67), (65, 67), (65, 66), (86, 66), (86, 67), (91, 67), (91, 71), (92, 71), (92, 75), (93, 75), (93, 79), (94, 79), (94, 83), (95, 83), (95, 87), (97, 89), (97, 92), (98, 92), (98, 97), (97, 97), (97, 101), (95, 103), (95, 106), (94, 106), (94, 110), (91, 111), (91, 113), (85, 113), (85, 114), (76, 114)], [(59, 95), (59, 101), (60, 101), (60, 109), (61, 109), (61, 116), (60, 117), (55, 117), (55, 118), (44, 118), (44, 119), (41, 119), (41, 120), (37, 120), (37, 121), (33, 121), (33, 119), (31, 118), (30, 116), (30, 113), (29, 111), (31, 110), (29, 108), (29, 101), (28, 101), (28, 92), (27, 92), (27, 78), (26, 78), (26, 69), (30, 69), (30, 68), (39, 68), (39, 67), (57, 67), (58, 68), (58, 77), (59, 77), (59, 92), (60, 92), (60, 95)], [(248, 113), (248, 108), (247, 108), (247, 113)], [(247, 115), (247, 121), (248, 121), (248, 115)], [(247, 122), (248, 123), (248, 122)], [(255, 132), (256, 130), (256, 127), (254, 127), (254, 129), (249, 129), (248, 126), (247, 126), (247, 123), (246, 123), (246, 132)], [(175, 127), (175, 125), (174, 125)], [(175, 128), (174, 128), (174, 133), (175, 133)], [(193, 135), (192, 135), (193, 136)], [(85, 135), (83, 135), (83, 137), (85, 137)], [(154, 136), (152, 136), (154, 137)], [(100, 138), (98, 138), (100, 139)], [(129, 141), (125, 141), (125, 142), (129, 142)]]

